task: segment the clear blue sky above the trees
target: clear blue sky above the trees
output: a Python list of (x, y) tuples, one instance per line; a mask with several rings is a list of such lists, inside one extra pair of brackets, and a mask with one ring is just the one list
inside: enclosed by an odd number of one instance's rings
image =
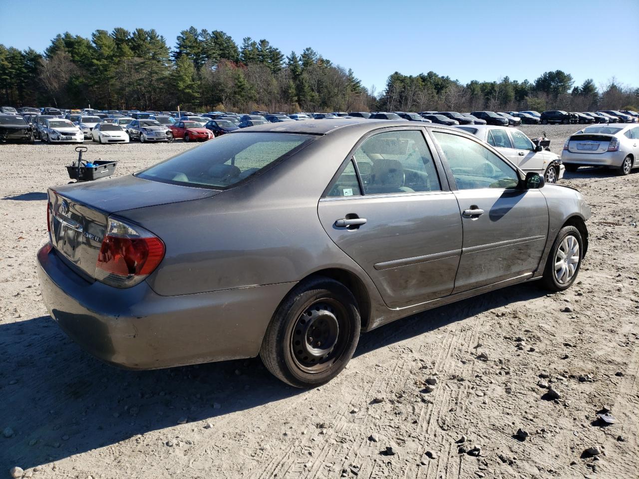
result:
[(0, 0), (5, 46), (42, 51), (57, 33), (89, 37), (116, 26), (155, 28), (174, 46), (195, 26), (225, 31), (238, 45), (266, 38), (284, 54), (310, 46), (378, 93), (392, 72), (430, 70), (465, 83), (532, 81), (560, 69), (577, 84), (615, 77), (639, 87), (638, 25), (639, 0)]

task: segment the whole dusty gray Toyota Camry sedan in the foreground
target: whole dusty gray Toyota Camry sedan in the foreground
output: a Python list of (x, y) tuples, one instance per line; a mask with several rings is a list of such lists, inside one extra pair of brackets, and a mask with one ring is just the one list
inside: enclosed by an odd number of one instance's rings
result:
[(520, 282), (567, 289), (590, 208), (458, 128), (339, 118), (51, 188), (47, 213), (43, 301), (90, 353), (128, 369), (259, 355), (308, 388), (362, 331)]

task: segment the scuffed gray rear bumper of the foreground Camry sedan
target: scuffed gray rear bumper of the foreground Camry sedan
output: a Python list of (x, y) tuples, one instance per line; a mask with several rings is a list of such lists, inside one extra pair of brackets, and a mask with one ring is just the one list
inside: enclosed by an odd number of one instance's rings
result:
[(257, 356), (266, 326), (293, 283), (160, 296), (146, 282), (88, 282), (50, 243), (38, 251), (42, 298), (77, 344), (125, 369), (159, 369)]

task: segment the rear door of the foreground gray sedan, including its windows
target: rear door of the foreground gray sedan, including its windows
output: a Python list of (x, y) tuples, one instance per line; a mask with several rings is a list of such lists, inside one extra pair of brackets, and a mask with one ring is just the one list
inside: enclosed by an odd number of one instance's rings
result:
[(328, 236), (366, 271), (389, 308), (454, 287), (461, 217), (431, 148), (420, 127), (367, 135), (318, 204)]

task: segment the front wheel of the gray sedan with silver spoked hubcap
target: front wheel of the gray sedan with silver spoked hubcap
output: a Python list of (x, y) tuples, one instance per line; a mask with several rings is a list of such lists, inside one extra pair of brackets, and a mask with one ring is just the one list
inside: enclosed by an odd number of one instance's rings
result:
[[(561, 253), (560, 253), (561, 252)], [(566, 259), (562, 259), (562, 254)], [(583, 239), (574, 226), (564, 226), (550, 248), (542, 284), (548, 291), (564, 291), (573, 285), (583, 259)]]

